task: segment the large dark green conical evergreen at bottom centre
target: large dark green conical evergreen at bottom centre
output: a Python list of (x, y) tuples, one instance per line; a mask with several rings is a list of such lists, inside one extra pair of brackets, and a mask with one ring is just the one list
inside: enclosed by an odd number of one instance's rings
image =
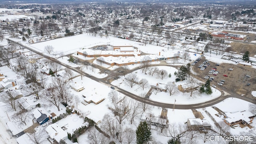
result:
[(136, 130), (136, 143), (144, 144), (145, 142), (149, 142), (152, 140), (152, 132), (150, 131), (150, 127), (147, 122), (140, 122)]

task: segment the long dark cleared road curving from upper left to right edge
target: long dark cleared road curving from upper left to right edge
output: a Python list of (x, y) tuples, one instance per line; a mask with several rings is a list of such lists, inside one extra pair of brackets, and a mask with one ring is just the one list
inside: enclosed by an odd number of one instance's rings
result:
[[(10, 40), (10, 41), (15, 42), (15, 41), (13, 41), (13, 40)], [(51, 57), (49, 57), (49, 56), (46, 56), (45, 54), (42, 54), (41, 52), (38, 52), (38, 51), (36, 51), (36, 50), (34, 50), (34, 49), (28, 47), (28, 46), (24, 46), (23, 44), (20, 44), (20, 43), (18, 43), (18, 42), (15, 42), (15, 43), (19, 44), (20, 46), (22, 46), (22, 47), (24, 47), (24, 48), (27, 48), (28, 50), (30, 50), (30, 51), (32, 51), (32, 52), (34, 52), (34, 53), (36, 53), (36, 54), (39, 54), (39, 55), (43, 56), (44, 58), (47, 58), (47, 59), (49, 59), (49, 60), (52, 60), (53, 62), (56, 62), (56, 63), (58, 63), (58, 64), (60, 64), (60, 65), (62, 65), (62, 66), (64, 66), (64, 67), (66, 67), (66, 68), (69, 68), (69, 69), (71, 69), (71, 70), (74, 70), (75, 72), (80, 73), (80, 71), (79, 71), (78, 69), (72, 68), (71, 66), (68, 66), (67, 64), (63, 64), (62, 62), (56, 60), (55, 58), (51, 58)], [(152, 64), (151, 66), (170, 66), (170, 65), (168, 65), (168, 64)], [(140, 69), (140, 68), (135, 68), (134, 70), (138, 70), (138, 69)], [(82, 72), (82, 74), (83, 74), (84, 76), (88, 77), (88, 74), (86, 74), (85, 72)], [(196, 77), (197, 77), (197, 76), (196, 76)], [(96, 78), (96, 77), (94, 77), (94, 76), (91, 76), (91, 77), (89, 77), (89, 78), (91, 78), (92, 80), (95, 80), (95, 81), (97, 81), (97, 82), (100, 82), (100, 83), (102, 83), (102, 84), (105, 84), (105, 85), (107, 85), (107, 86), (112, 86), (112, 85), (110, 84), (110, 82), (109, 82), (109, 81), (106, 81), (105, 79), (99, 79), (99, 78)], [(126, 91), (126, 90), (122, 90), (122, 89), (120, 89), (120, 88), (116, 88), (116, 90), (117, 90), (118, 92), (120, 92), (120, 93), (126, 95), (126, 96), (129, 96), (130, 98), (133, 98), (133, 99), (138, 100), (138, 101), (140, 101), (140, 102), (144, 102), (144, 103), (146, 103), (146, 104), (150, 104), (150, 105), (153, 105), (153, 106), (164, 107), (164, 108), (173, 108), (173, 104), (166, 104), (166, 103), (162, 103), (162, 102), (155, 102), (155, 101), (152, 101), (152, 100), (150, 100), (150, 99), (142, 98), (142, 97), (140, 97), (140, 96), (137, 96), (137, 95), (135, 95), (135, 94), (132, 94), (132, 93), (130, 93), (130, 92)], [(247, 98), (247, 97), (244, 97), (244, 96), (240, 96), (240, 95), (238, 95), (238, 94), (237, 94), (237, 95), (234, 95), (234, 96), (231, 96), (231, 95), (223, 96), (223, 94), (222, 94), (222, 96), (220, 96), (220, 97), (218, 97), (218, 98), (216, 98), (216, 99), (210, 100), (210, 101), (208, 101), (208, 102), (204, 102), (204, 103), (189, 104), (189, 105), (175, 104), (175, 109), (195, 109), (195, 108), (204, 108), (204, 107), (208, 107), (208, 106), (212, 106), (212, 105), (214, 105), (214, 104), (217, 104), (217, 103), (223, 101), (224, 99), (230, 98), (230, 97), (239, 98), (239, 99), (242, 99), (242, 100), (246, 100), (246, 101), (248, 101), (248, 102), (256, 103), (256, 100), (253, 100), (253, 99), (251, 99), (251, 98)]]

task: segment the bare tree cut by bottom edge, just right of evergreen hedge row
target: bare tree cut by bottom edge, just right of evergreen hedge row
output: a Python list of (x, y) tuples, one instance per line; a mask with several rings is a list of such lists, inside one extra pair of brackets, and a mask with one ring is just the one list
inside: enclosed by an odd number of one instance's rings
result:
[(91, 139), (88, 140), (89, 144), (109, 144), (110, 140), (100, 133), (96, 128), (90, 129), (89, 133)]

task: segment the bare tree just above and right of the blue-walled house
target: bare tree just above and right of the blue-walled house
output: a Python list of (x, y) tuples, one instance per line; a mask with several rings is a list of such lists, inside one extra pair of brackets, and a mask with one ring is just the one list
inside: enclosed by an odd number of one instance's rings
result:
[(51, 88), (50, 96), (44, 96), (44, 99), (58, 108), (60, 111), (60, 104), (62, 102), (61, 96), (59, 96), (57, 90)]

